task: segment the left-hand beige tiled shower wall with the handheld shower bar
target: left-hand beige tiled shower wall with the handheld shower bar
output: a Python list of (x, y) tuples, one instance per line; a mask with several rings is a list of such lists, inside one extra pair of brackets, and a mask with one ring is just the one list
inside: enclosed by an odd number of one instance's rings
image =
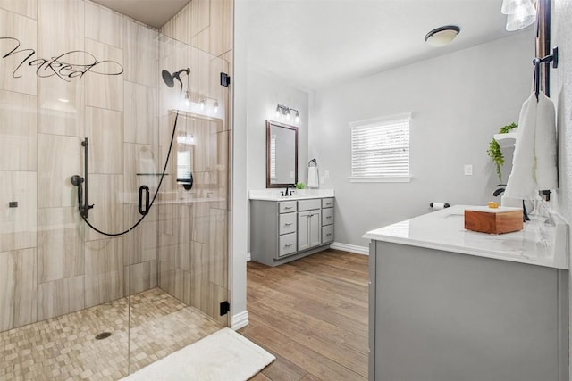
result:
[[(116, 232), (135, 218), (125, 173), (138, 149), (156, 145), (156, 33), (83, 0), (0, 0), (0, 37), (18, 38), (33, 58), (85, 50), (125, 69), (68, 81), (27, 64), (13, 76), (27, 54), (0, 59), (0, 330), (120, 298), (130, 265), (134, 290), (156, 286), (153, 240), (130, 248), (128, 237), (87, 228), (70, 182), (83, 174), (88, 137), (90, 221)], [(0, 40), (0, 56), (13, 47)], [(155, 236), (156, 219), (142, 229)]]

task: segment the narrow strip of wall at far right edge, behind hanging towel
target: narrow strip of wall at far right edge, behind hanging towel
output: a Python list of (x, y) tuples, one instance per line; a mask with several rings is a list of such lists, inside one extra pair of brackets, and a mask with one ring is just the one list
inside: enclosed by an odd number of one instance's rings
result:
[[(551, 69), (551, 98), (557, 109), (559, 137), (559, 190), (555, 192), (554, 209), (572, 222), (572, 4), (566, 0), (552, 2), (551, 46), (559, 46), (559, 67)], [(572, 247), (569, 237), (568, 253)], [(568, 258), (572, 263), (572, 257)], [(572, 278), (568, 277), (568, 326), (572, 327)], [(569, 344), (572, 344), (570, 333)], [(572, 346), (569, 347), (572, 352)], [(572, 363), (570, 364), (572, 374)]]

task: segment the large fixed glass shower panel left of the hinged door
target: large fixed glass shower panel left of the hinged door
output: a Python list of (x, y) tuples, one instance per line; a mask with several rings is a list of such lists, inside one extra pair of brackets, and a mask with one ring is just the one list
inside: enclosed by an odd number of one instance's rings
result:
[(91, 224), (124, 228), (125, 21), (81, 0), (0, 2), (1, 379), (127, 374), (129, 242), (88, 228), (71, 182)]

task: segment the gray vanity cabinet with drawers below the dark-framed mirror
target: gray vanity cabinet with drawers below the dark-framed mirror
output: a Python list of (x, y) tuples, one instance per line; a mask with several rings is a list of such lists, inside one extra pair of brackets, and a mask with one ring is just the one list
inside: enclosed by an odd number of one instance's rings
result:
[[(276, 266), (327, 249), (333, 241), (332, 205), (332, 197), (250, 200), (252, 261)], [(326, 221), (323, 213), (330, 216)], [(329, 233), (327, 239), (323, 238), (324, 231)]]

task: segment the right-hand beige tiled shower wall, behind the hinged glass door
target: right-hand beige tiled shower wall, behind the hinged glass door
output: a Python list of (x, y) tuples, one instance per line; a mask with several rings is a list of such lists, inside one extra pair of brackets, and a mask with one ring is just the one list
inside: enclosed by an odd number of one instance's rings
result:
[[(231, 102), (228, 90), (219, 84), (219, 76), (221, 72), (231, 72), (231, 15), (231, 0), (192, 1), (161, 32), (198, 50), (190, 54), (160, 54), (164, 56), (164, 67), (190, 67), (193, 102), (208, 97), (227, 107), (222, 120), (179, 116), (179, 130), (195, 141), (191, 148), (195, 185), (184, 191), (170, 183), (162, 193), (163, 201), (182, 200), (183, 206), (162, 204), (158, 211), (159, 286), (224, 325), (227, 316), (220, 316), (219, 303), (228, 301)], [(199, 94), (193, 89), (199, 89)], [(160, 147), (165, 154), (174, 115), (164, 102), (159, 114)], [(170, 164), (169, 171), (173, 173), (175, 162)], [(195, 202), (184, 203), (188, 199)]]

